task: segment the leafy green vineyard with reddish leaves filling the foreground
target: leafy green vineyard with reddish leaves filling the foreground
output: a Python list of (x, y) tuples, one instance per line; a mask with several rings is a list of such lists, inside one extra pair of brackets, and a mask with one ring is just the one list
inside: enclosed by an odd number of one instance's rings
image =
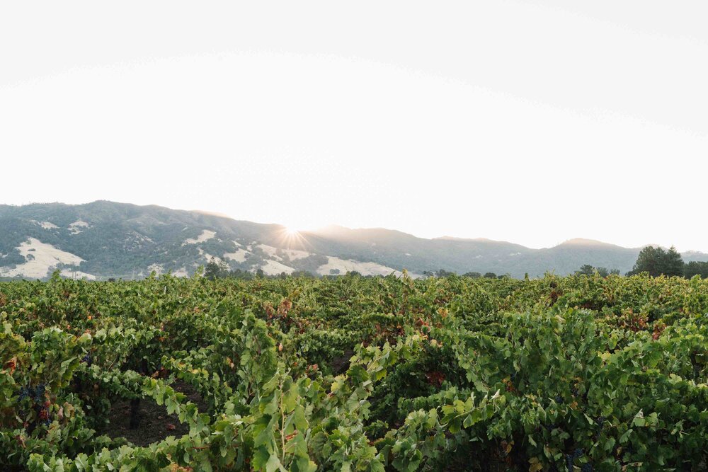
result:
[(698, 277), (0, 283), (0, 470), (705, 470), (707, 313)]

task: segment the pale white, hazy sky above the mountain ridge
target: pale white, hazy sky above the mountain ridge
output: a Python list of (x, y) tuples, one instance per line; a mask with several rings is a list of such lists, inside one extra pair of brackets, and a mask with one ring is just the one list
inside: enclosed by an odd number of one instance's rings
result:
[(708, 252), (708, 3), (5, 2), (0, 203)]

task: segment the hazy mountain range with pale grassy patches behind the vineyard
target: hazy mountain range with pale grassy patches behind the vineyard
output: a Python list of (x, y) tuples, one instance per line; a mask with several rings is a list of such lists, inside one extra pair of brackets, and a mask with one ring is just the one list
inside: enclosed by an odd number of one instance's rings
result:
[[(484, 238), (417, 238), (390, 229), (328, 226), (290, 234), (285, 226), (237, 221), (202, 211), (182, 211), (108, 201), (0, 205), (0, 277), (145, 277), (150, 272), (192, 275), (210, 258), (266, 274), (307, 270), (320, 275), (356, 270), (413, 275), (445, 269), (531, 277), (567, 274), (583, 264), (632, 269), (639, 248), (573, 239), (531, 249)], [(690, 252), (683, 258), (708, 260)]]

